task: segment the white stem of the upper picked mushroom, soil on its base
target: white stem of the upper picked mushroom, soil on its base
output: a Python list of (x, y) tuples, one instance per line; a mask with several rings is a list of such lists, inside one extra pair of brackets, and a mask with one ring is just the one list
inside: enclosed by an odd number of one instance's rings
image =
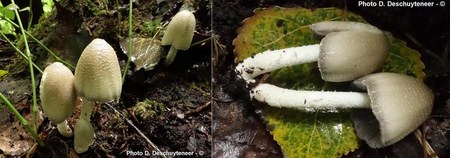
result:
[[(171, 50), (171, 49), (170, 49)], [(255, 82), (254, 77), (279, 68), (317, 61), (319, 44), (267, 50), (244, 59), (235, 71), (247, 82)]]

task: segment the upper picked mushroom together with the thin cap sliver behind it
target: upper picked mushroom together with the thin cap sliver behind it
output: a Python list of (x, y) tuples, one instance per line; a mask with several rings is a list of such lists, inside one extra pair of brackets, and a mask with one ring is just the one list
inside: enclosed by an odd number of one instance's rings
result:
[(253, 78), (262, 73), (317, 61), (322, 79), (344, 82), (374, 72), (387, 58), (387, 39), (374, 26), (326, 21), (310, 28), (313, 33), (326, 35), (320, 44), (267, 50), (244, 59), (236, 66), (236, 72), (247, 83), (254, 83)]

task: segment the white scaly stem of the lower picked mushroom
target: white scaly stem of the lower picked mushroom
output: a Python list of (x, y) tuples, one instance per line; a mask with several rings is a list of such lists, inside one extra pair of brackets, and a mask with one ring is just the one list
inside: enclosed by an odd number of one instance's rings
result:
[(370, 108), (367, 93), (296, 91), (270, 84), (259, 84), (250, 92), (251, 97), (273, 107), (296, 109)]

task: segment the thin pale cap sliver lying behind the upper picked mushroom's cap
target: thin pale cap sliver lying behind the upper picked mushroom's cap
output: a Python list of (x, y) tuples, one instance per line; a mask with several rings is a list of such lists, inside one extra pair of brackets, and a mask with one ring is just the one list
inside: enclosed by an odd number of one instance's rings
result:
[(354, 21), (323, 21), (309, 25), (312, 33), (319, 36), (325, 36), (331, 32), (348, 31), (348, 30), (365, 30), (372, 33), (382, 33), (375, 26), (354, 22)]

